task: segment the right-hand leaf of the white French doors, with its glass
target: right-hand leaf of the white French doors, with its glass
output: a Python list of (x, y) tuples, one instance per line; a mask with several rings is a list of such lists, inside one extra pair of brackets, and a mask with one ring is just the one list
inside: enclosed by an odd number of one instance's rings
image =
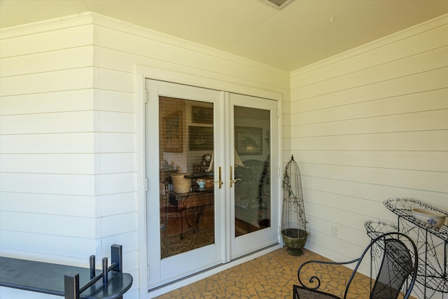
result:
[[(230, 93), (230, 258), (279, 242), (277, 102)], [(232, 151), (231, 149), (234, 149)], [(229, 176), (230, 177), (230, 176)]]

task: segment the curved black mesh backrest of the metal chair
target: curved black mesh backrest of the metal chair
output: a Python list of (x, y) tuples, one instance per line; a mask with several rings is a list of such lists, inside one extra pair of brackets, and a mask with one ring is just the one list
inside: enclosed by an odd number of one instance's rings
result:
[[(377, 270), (377, 277), (370, 292), (370, 299), (396, 299), (405, 282), (407, 282), (407, 288), (403, 299), (409, 298), (416, 279), (419, 257), (412, 239), (400, 232), (388, 232), (370, 242), (360, 256), (355, 270), (348, 281), (345, 296), (356, 270), (358, 270), (363, 257), (369, 251), (372, 253), (371, 259), (373, 256), (377, 256), (377, 251), (381, 251), (380, 256), (382, 256), (381, 264)], [(411, 274), (412, 277), (407, 281)]]

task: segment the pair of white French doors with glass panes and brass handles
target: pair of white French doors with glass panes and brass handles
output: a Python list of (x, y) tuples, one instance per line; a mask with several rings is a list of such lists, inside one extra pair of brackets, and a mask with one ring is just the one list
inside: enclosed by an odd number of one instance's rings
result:
[(162, 81), (146, 90), (149, 288), (278, 243), (276, 102)]

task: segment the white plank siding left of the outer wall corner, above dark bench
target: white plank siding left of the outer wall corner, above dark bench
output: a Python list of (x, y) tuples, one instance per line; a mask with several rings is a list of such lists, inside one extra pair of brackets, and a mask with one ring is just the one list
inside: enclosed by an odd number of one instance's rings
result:
[(100, 237), (93, 27), (39, 28), (1, 32), (0, 252), (87, 265)]

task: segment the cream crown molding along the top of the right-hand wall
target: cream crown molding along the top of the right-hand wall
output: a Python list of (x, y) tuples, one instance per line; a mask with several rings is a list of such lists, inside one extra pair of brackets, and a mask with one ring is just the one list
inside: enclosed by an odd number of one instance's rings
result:
[(291, 71), (290, 77), (293, 78), (295, 76), (300, 76), (302, 74), (308, 73), (309, 71), (314, 71), (316, 69), (326, 67), (330, 64), (334, 64), (336, 62), (340, 62), (342, 60), (349, 59), (350, 57), (360, 55), (362, 53), (366, 53), (366, 52), (369, 52), (369, 51), (377, 49), (377, 48), (384, 47), (390, 43), (394, 43), (395, 41), (407, 39), (410, 36), (414, 36), (416, 34), (420, 34), (422, 32), (426, 32), (430, 29), (435, 29), (437, 27), (441, 27), (441, 26), (447, 25), (447, 24), (448, 24), (448, 14), (441, 15), (440, 17), (428, 20), (428, 21), (420, 23), (418, 25), (414, 25), (412, 27), (403, 29), (403, 30), (401, 30), (399, 32), (395, 32), (393, 34), (389, 34), (388, 36), (384, 36), (381, 39), (371, 41), (370, 43), (365, 43), (362, 46), (353, 48), (351, 50), (347, 50), (343, 53), (339, 53), (332, 57), (325, 58), (324, 60), (321, 60), (314, 64), (309, 64), (306, 67), (296, 69), (295, 71)]

